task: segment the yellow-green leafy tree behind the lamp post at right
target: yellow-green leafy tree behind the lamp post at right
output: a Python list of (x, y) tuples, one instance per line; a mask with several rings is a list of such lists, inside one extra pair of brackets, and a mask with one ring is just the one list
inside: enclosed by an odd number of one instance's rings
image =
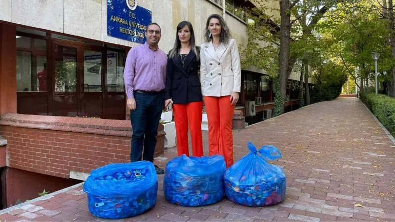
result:
[[(368, 6), (366, 0), (339, 3), (317, 26), (317, 32), (326, 42), (331, 59), (344, 66), (344, 71), (360, 90), (364, 89), (364, 81), (368, 83), (373, 77), (374, 60), (371, 52), (382, 52), (379, 72), (389, 70), (392, 66), (388, 56), (390, 48), (386, 45), (387, 24)], [(360, 79), (359, 84), (357, 79)]]

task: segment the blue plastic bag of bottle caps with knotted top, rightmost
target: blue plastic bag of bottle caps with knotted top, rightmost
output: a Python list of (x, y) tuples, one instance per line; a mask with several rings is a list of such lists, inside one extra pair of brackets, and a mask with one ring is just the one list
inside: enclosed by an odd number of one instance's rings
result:
[(259, 151), (248, 142), (251, 151), (225, 172), (225, 193), (232, 202), (252, 207), (277, 204), (284, 200), (286, 182), (284, 171), (269, 164), (281, 152), (273, 146), (264, 146)]

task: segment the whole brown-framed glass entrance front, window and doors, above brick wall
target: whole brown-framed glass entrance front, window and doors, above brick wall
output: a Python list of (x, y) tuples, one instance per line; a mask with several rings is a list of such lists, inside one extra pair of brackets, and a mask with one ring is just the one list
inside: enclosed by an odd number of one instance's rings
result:
[(17, 32), (20, 44), (29, 41), (17, 53), (17, 112), (125, 119), (125, 48), (44, 34)]

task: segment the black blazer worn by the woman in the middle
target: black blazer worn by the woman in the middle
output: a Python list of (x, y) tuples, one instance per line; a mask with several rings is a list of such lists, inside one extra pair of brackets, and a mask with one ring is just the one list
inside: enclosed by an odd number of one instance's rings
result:
[(200, 61), (197, 60), (195, 53), (191, 50), (183, 68), (178, 57), (177, 54), (174, 58), (168, 58), (167, 60), (165, 99), (171, 98), (174, 104), (202, 101), (200, 79), (197, 75)]

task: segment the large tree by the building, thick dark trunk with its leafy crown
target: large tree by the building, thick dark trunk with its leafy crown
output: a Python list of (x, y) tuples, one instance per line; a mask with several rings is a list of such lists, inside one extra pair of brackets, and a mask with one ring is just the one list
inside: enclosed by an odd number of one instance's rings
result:
[[(273, 1), (279, 3), (280, 18), (268, 15), (269, 11), (278, 10), (278, 7), (267, 6), (268, 2)], [(311, 37), (318, 21), (338, 0), (256, 0), (256, 2), (259, 7), (250, 10), (249, 14), (253, 15), (254, 24), (258, 25), (259, 29), (251, 25), (249, 29), (259, 32), (253, 33), (255, 37), (249, 35), (248, 45), (242, 54), (248, 65), (266, 67), (268, 74), (275, 77), (275, 115), (279, 115), (284, 113), (287, 80), (297, 59), (303, 57), (300, 51), (292, 50), (292, 45), (297, 45), (301, 39)], [(304, 18), (308, 18), (306, 22), (303, 22)], [(263, 49), (258, 40), (266, 42), (266, 47), (270, 49)], [(270, 53), (263, 54), (265, 50)], [(277, 51), (277, 55), (273, 55), (274, 51)], [(268, 67), (269, 65), (276, 68), (276, 74), (273, 74), (273, 68)], [(304, 67), (306, 70), (307, 65)], [(306, 75), (305, 77), (308, 78)]]

